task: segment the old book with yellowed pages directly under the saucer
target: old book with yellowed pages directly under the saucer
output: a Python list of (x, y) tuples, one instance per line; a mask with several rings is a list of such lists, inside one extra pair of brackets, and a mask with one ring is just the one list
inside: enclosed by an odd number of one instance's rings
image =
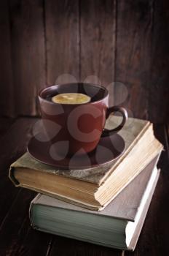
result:
[[(109, 118), (107, 128), (114, 120)], [(126, 150), (109, 164), (86, 170), (56, 170), (26, 153), (11, 165), (9, 178), (15, 186), (101, 210), (162, 151), (149, 121), (129, 118), (119, 134), (125, 139)]]

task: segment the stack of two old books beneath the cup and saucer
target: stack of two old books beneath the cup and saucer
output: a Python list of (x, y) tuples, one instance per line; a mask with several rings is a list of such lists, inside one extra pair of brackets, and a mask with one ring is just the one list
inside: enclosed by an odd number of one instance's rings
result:
[[(118, 117), (109, 118), (106, 127)], [(9, 170), (15, 186), (39, 194), (31, 202), (37, 230), (118, 249), (135, 249), (160, 170), (162, 144), (149, 121), (128, 118), (119, 132), (125, 153), (85, 170), (58, 170), (28, 153)], [(104, 152), (103, 152), (104, 154)]]

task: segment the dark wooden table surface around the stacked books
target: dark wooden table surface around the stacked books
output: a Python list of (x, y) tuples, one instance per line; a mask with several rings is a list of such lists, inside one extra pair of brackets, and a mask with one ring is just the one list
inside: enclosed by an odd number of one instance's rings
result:
[(14, 187), (8, 178), (9, 165), (26, 150), (31, 127), (36, 118), (0, 118), (0, 256), (117, 256), (168, 255), (169, 230), (169, 150), (168, 129), (154, 125), (157, 138), (164, 144), (158, 167), (160, 179), (135, 252), (124, 252), (103, 246), (52, 236), (33, 230), (28, 208), (36, 195), (27, 189)]

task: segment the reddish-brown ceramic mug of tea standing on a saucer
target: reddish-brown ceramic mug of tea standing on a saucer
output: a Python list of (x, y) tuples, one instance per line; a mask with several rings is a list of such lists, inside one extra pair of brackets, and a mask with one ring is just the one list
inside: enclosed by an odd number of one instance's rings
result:
[[(84, 104), (58, 104), (51, 100), (56, 94), (70, 92), (87, 94), (91, 101)], [(125, 108), (108, 107), (109, 91), (103, 86), (90, 83), (47, 87), (39, 91), (39, 102), (44, 129), (60, 154), (64, 151), (64, 146), (68, 154), (93, 151), (101, 137), (118, 132), (127, 120)], [(106, 118), (117, 111), (122, 113), (122, 123), (115, 129), (105, 129)]]

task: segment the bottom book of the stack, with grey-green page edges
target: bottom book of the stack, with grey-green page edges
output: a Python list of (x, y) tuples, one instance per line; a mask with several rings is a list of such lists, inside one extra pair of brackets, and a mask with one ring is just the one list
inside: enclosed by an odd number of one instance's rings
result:
[(36, 230), (118, 249), (135, 249), (156, 187), (157, 157), (103, 211), (37, 195), (30, 206)]

